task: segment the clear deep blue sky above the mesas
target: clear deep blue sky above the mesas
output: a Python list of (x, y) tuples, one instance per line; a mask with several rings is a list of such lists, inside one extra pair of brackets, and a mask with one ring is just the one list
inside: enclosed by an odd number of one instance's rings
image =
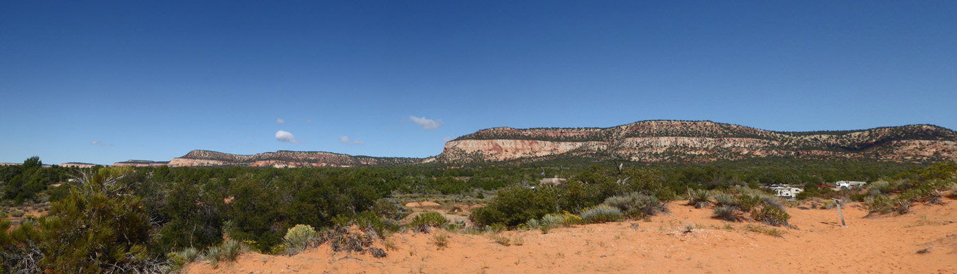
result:
[(957, 128), (955, 1), (92, 2), (0, 2), (0, 162), (429, 157), (646, 119)]

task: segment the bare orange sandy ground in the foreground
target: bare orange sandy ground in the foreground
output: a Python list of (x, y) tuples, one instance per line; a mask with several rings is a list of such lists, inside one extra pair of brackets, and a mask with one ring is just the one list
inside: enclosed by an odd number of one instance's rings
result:
[[(864, 218), (844, 209), (789, 208), (797, 229), (783, 237), (746, 231), (753, 222), (711, 219), (711, 209), (681, 201), (650, 221), (624, 221), (490, 235), (389, 236), (397, 247), (382, 259), (333, 254), (326, 246), (292, 256), (246, 253), (235, 263), (191, 263), (188, 273), (957, 273), (957, 200), (915, 205), (901, 216)], [(698, 227), (684, 233), (693, 222)], [(634, 224), (636, 223), (636, 224)], [(636, 228), (634, 226), (637, 226)], [(728, 227), (728, 225), (730, 227)], [(730, 228), (730, 229), (728, 229)], [(782, 229), (782, 228), (778, 228)], [(522, 242), (521, 245), (516, 242)], [(378, 246), (383, 246), (381, 242)]]

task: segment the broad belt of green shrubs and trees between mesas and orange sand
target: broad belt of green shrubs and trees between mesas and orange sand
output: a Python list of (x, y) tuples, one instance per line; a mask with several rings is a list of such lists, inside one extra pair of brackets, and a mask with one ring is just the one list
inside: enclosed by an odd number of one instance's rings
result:
[[(851, 172), (844, 169), (883, 180), (805, 196), (862, 201), (874, 214), (905, 214), (914, 203), (944, 202), (957, 189), (952, 163), (922, 169), (800, 163), (765, 159), (622, 169), (600, 163), (554, 168), (566, 183), (540, 185), (537, 166), (73, 169), (41, 168), (31, 158), (0, 167), (0, 215), (16, 218), (0, 221), (0, 272), (167, 273), (187, 263), (222, 265), (242, 252), (288, 255), (320, 245), (381, 258), (386, 251), (373, 243), (403, 230), (438, 230), (432, 236), (436, 246), (450, 233), (498, 235), (488, 237), (518, 245), (521, 237), (500, 232), (546, 234), (583, 223), (648, 219), (667, 213), (679, 193), (688, 194), (691, 206), (713, 207), (716, 219), (788, 226), (788, 205), (755, 189), (756, 182), (812, 178), (807, 181), (816, 185), (846, 178)], [(405, 202), (430, 197), (486, 205), (471, 209), (473, 226), (434, 212), (399, 225), (411, 213)], [(750, 226), (757, 228), (748, 231), (765, 227)]]

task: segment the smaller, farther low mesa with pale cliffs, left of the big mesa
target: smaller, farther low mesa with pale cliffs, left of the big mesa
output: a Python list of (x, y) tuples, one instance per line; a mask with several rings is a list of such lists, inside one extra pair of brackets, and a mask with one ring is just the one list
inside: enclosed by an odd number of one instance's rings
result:
[(233, 155), (206, 150), (194, 150), (181, 158), (169, 161), (177, 166), (272, 166), (272, 167), (320, 167), (357, 166), (377, 164), (415, 163), (421, 158), (375, 158), (349, 156), (327, 152), (278, 151), (256, 155)]

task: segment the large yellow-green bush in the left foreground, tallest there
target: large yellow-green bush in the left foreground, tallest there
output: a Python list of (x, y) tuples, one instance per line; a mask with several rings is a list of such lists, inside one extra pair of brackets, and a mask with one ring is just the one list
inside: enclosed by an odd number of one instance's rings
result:
[(149, 216), (143, 199), (120, 179), (128, 168), (101, 168), (84, 174), (70, 195), (54, 202), (41, 221), (47, 239), (40, 245), (40, 264), (54, 273), (145, 271), (154, 260)]

